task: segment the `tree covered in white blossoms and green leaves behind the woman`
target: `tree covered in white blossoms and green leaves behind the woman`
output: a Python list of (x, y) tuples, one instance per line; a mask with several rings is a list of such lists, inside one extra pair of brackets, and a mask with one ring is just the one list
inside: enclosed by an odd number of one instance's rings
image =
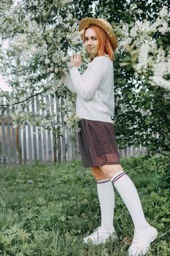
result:
[[(27, 122), (60, 134), (58, 113), (42, 117), (28, 111), (35, 95), (55, 95), (64, 101), (60, 111), (66, 123), (77, 127), (75, 95), (61, 83), (59, 70), (67, 70), (70, 49), (84, 52), (78, 21), (107, 18), (119, 42), (114, 61), (117, 141), (122, 147), (142, 144), (150, 151), (169, 151), (168, 11), (166, 1), (146, 2), (143, 7), (125, 0), (0, 1), (0, 69), (13, 89), (12, 96), (0, 91), (0, 102), (6, 97), (1, 113), (10, 108), (16, 126)], [(46, 103), (39, 99), (39, 109), (47, 108), (50, 98)]]

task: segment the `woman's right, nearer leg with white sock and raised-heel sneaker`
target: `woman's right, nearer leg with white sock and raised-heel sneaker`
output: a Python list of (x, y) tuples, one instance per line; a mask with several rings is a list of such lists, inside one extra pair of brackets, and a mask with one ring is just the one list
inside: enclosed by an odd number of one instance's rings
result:
[(121, 165), (103, 165), (100, 168), (119, 192), (134, 222), (134, 240), (129, 249), (129, 255), (145, 255), (158, 232), (154, 227), (150, 227), (144, 218), (142, 205), (133, 181), (123, 171)]

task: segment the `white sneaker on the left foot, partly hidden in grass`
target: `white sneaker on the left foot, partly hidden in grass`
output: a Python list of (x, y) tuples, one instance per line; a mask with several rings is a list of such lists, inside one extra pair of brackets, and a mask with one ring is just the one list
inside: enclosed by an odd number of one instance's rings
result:
[(116, 237), (114, 228), (112, 230), (107, 230), (107, 229), (104, 229), (103, 227), (98, 227), (96, 228), (94, 233), (92, 233), (90, 236), (83, 238), (83, 242), (85, 244), (88, 244), (88, 243), (93, 243), (96, 245), (104, 244), (107, 241), (107, 239), (110, 237), (112, 238)]

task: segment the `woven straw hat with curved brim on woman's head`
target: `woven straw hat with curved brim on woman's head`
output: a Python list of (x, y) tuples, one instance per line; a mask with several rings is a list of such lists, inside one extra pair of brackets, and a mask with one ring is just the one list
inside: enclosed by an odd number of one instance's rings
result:
[(110, 23), (107, 22), (107, 20), (104, 20), (103, 18), (84, 18), (80, 20), (79, 31), (82, 31), (83, 29), (88, 29), (90, 25), (99, 26), (101, 29), (103, 29), (107, 33), (107, 36), (109, 37), (112, 48), (115, 51), (117, 48), (117, 37), (115, 36)]

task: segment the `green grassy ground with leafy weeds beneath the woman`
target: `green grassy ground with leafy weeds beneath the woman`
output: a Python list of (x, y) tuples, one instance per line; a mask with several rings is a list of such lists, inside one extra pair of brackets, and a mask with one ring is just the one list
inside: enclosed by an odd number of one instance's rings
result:
[[(122, 165), (136, 184), (148, 222), (159, 231), (148, 255), (170, 255), (170, 160), (131, 158), (123, 160)], [(99, 223), (96, 182), (80, 162), (1, 167), (1, 256), (128, 255), (133, 225), (117, 192), (118, 239), (102, 246), (82, 244), (82, 238)]]

